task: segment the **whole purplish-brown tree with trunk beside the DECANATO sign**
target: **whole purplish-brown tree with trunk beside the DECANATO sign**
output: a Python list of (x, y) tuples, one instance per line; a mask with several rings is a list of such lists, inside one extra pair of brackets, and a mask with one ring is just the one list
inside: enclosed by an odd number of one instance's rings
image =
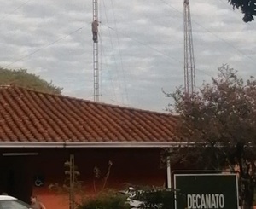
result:
[(187, 96), (180, 88), (169, 95), (175, 102), (168, 108), (179, 115), (177, 140), (195, 145), (174, 156), (189, 156), (187, 160), (197, 160), (204, 169), (228, 166), (239, 171), (241, 203), (247, 209), (253, 204), (255, 179), (256, 80), (245, 82), (226, 65), (218, 72), (212, 84), (202, 84), (195, 95)]

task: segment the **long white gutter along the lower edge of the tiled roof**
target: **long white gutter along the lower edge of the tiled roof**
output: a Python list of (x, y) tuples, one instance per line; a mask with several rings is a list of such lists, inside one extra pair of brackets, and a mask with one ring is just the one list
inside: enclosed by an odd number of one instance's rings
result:
[(195, 142), (0, 142), (0, 148), (175, 148)]

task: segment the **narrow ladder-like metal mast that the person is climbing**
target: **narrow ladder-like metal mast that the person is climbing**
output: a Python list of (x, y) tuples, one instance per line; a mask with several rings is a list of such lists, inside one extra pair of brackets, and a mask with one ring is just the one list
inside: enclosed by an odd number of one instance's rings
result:
[[(98, 1), (92, 0), (93, 21), (98, 20)], [(98, 42), (93, 41), (93, 78), (94, 78), (94, 101), (99, 102), (100, 96), (100, 75), (99, 75), (99, 53)]]

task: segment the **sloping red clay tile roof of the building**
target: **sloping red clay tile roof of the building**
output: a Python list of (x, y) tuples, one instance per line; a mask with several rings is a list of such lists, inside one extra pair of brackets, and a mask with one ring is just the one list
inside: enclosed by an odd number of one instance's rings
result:
[(172, 142), (176, 117), (0, 87), (0, 142)]

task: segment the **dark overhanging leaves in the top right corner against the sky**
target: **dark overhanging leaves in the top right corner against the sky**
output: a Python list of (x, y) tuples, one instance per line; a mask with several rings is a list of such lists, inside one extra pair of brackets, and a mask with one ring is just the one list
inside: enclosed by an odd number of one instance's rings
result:
[(233, 9), (241, 9), (244, 14), (242, 20), (249, 22), (256, 15), (256, 0), (228, 0)]

